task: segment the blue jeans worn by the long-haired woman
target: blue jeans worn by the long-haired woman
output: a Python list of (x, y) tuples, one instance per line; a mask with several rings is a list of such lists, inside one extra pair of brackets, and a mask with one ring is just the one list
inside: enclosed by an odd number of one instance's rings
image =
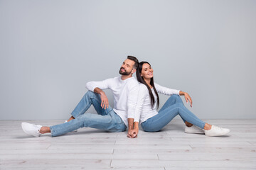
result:
[(164, 103), (157, 115), (141, 124), (142, 129), (146, 132), (157, 132), (171, 122), (176, 115), (180, 115), (184, 123), (187, 121), (201, 129), (206, 124), (184, 106), (180, 96), (174, 94)]

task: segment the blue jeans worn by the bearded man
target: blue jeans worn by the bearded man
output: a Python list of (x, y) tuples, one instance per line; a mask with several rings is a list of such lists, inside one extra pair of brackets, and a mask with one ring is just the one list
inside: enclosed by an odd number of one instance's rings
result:
[[(101, 108), (101, 99), (99, 94), (92, 91), (87, 91), (82, 97), (78, 106), (75, 107), (71, 113), (75, 119), (68, 123), (50, 126), (50, 132), (53, 137), (63, 135), (67, 132), (72, 132), (82, 127), (96, 128), (100, 130), (107, 130), (108, 132), (123, 132), (127, 129), (122, 119), (114, 113), (109, 106), (104, 109)], [(85, 113), (90, 106), (93, 105), (97, 114)]]

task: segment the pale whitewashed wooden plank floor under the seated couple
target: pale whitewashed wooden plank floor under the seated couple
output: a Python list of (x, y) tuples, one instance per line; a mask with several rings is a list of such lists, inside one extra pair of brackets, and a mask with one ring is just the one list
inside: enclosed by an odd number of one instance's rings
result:
[[(23, 120), (24, 121), (24, 120)], [(0, 120), (0, 169), (256, 169), (256, 120), (205, 120), (230, 128), (225, 137), (186, 134), (181, 120), (161, 132), (82, 128), (60, 137), (30, 137), (21, 120)], [(63, 120), (30, 120), (55, 125)]]

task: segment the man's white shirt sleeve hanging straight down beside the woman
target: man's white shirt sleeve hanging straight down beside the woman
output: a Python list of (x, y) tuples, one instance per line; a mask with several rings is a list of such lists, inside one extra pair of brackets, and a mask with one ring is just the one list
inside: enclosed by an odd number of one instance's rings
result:
[(127, 88), (127, 118), (134, 118), (134, 111), (139, 92), (139, 84), (137, 81), (133, 81), (131, 84), (129, 84), (129, 86), (127, 86)]

